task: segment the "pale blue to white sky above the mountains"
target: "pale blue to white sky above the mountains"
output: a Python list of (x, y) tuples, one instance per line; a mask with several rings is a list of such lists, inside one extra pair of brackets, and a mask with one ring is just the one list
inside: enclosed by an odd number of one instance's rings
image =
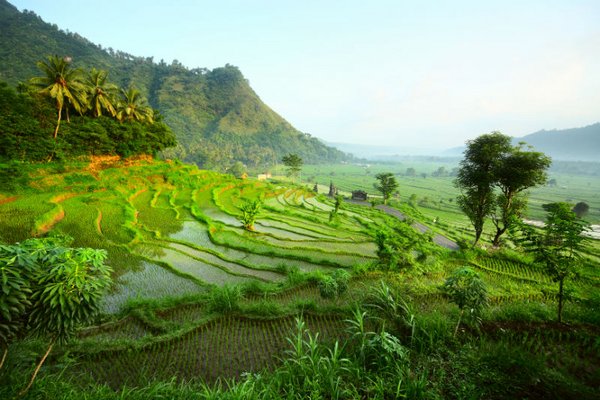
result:
[(105, 48), (236, 65), (328, 142), (441, 150), (600, 121), (598, 0), (9, 1)]

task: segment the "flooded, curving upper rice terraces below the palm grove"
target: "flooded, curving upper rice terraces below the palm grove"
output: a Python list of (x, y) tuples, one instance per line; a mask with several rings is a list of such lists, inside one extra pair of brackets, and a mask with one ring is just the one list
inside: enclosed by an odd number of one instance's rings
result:
[[(71, 182), (77, 183), (67, 185)], [(94, 175), (53, 174), (36, 189), (0, 204), (2, 239), (67, 234), (74, 246), (107, 249), (115, 277), (105, 301), (109, 312), (128, 299), (276, 283), (286, 279), (284, 271), (350, 268), (376, 257), (364, 223), (342, 214), (331, 226), (330, 206), (304, 189), (190, 166), (157, 163)], [(264, 198), (266, 206), (249, 232), (237, 219), (238, 207), (254, 198)]]

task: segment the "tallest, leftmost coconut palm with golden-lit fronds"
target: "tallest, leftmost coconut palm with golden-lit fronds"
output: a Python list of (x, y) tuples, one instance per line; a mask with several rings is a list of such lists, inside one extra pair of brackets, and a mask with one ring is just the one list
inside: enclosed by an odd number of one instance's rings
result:
[[(40, 61), (37, 66), (46, 76), (31, 78), (30, 83), (40, 88), (39, 92), (42, 95), (56, 102), (58, 111), (54, 130), (54, 139), (56, 139), (65, 105), (72, 106), (79, 113), (85, 109), (87, 105), (85, 86), (80, 80), (81, 71), (71, 67), (71, 59), (68, 57), (48, 56), (48, 61)], [(67, 120), (68, 117), (67, 108)]]

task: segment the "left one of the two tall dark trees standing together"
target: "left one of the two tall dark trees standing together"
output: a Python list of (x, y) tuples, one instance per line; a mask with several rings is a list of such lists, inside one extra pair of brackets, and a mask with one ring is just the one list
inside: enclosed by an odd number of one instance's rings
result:
[(510, 140), (510, 137), (500, 132), (481, 135), (467, 142), (465, 156), (460, 162), (454, 183), (461, 191), (458, 205), (475, 229), (473, 246), (481, 238), (485, 219), (493, 210), (496, 199), (495, 174), (502, 156), (511, 149)]

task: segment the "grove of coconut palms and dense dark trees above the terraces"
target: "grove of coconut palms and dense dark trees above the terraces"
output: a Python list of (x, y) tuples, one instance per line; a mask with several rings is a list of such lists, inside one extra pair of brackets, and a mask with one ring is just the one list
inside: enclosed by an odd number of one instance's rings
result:
[[(40, 63), (40, 68), (46, 76), (32, 78), (31, 86), (21, 93), (0, 82), (0, 161), (156, 155), (175, 145), (175, 136), (162, 116), (147, 107), (139, 92), (125, 92), (126, 105), (120, 106), (125, 110), (123, 123), (114, 118), (117, 87), (107, 81), (107, 72), (92, 69), (82, 80), (81, 72), (75, 73), (68, 60), (56, 56)], [(52, 77), (56, 82), (52, 83)], [(69, 109), (80, 115), (61, 125), (62, 113)], [(47, 133), (51, 127), (52, 136)]]

